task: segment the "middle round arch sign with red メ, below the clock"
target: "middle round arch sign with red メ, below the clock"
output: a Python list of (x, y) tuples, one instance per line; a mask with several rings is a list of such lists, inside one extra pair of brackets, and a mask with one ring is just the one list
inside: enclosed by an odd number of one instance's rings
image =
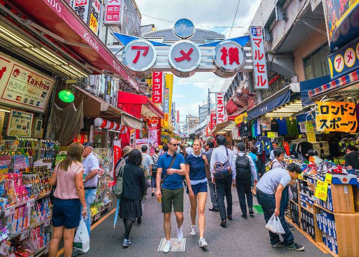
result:
[(189, 77), (201, 63), (202, 53), (198, 46), (188, 40), (181, 40), (169, 48), (169, 64), (173, 74)]

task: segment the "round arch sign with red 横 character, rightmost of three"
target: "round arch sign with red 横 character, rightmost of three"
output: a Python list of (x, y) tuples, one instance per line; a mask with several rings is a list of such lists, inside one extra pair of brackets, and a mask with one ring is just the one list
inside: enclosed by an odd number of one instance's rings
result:
[[(260, 53), (258, 53), (260, 55)], [(231, 75), (238, 72), (246, 62), (246, 53), (241, 45), (226, 40), (219, 43), (213, 50), (215, 66), (224, 73)], [(265, 58), (262, 53), (258, 58)]]

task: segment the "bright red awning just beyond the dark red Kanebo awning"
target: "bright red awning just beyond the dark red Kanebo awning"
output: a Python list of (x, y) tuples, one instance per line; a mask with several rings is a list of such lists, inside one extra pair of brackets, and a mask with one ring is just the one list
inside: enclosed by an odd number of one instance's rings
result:
[[(142, 115), (144, 117), (158, 117), (165, 118), (164, 113), (145, 95), (138, 95), (134, 93), (127, 93), (123, 91), (118, 92), (118, 107), (124, 108), (127, 106), (131, 111), (137, 112), (135, 110), (135, 105), (141, 105), (139, 109), (139, 114), (132, 113), (133, 116)], [(125, 107), (127, 110), (128, 108)]]

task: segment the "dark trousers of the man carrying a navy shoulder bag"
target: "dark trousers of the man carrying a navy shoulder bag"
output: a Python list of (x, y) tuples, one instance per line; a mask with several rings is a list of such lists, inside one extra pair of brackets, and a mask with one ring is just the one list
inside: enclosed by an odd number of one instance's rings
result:
[[(221, 219), (227, 219), (227, 214), (232, 216), (232, 175), (224, 179), (216, 179), (217, 203)], [(227, 213), (224, 204), (224, 197), (227, 200)]]

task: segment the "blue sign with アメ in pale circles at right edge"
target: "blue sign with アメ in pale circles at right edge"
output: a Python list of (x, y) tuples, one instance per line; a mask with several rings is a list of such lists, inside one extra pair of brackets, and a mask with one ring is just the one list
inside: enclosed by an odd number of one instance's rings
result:
[(335, 79), (359, 69), (359, 39), (328, 56), (330, 76)]

